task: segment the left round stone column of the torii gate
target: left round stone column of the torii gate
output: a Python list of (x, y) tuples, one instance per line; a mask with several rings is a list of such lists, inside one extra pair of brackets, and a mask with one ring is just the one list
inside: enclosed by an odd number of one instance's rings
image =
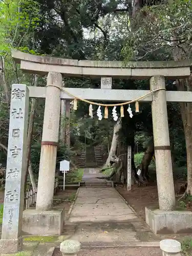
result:
[(49, 72), (47, 77), (44, 126), (42, 130), (39, 177), (37, 186), (36, 210), (49, 210), (53, 202), (55, 167), (60, 119), (60, 89), (62, 76)]

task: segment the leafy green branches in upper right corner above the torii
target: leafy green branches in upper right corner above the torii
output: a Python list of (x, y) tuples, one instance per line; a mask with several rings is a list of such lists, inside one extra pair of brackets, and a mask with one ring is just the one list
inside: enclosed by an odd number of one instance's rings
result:
[[(171, 4), (144, 6), (135, 19), (135, 29), (127, 36), (122, 55), (131, 59), (173, 59), (173, 46), (179, 46), (181, 58), (192, 50), (192, 3), (176, 0)], [(174, 37), (173, 37), (174, 36)]]

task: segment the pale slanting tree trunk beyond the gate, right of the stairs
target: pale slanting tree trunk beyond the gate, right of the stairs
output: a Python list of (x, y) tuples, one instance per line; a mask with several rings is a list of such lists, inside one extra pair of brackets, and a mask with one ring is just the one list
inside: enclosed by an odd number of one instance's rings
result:
[(117, 151), (117, 142), (118, 142), (118, 132), (121, 129), (121, 119), (117, 121), (117, 123), (114, 125), (113, 128), (113, 138), (111, 142), (111, 148), (110, 148), (110, 153), (108, 156), (108, 159), (106, 159), (106, 162), (104, 164), (104, 167), (108, 167), (110, 165), (110, 161), (114, 159), (116, 156), (116, 151)]

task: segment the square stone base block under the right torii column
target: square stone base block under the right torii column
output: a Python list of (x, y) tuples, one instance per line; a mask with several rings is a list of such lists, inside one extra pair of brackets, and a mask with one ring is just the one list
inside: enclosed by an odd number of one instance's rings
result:
[(145, 221), (155, 234), (192, 233), (191, 211), (164, 211), (145, 207)]

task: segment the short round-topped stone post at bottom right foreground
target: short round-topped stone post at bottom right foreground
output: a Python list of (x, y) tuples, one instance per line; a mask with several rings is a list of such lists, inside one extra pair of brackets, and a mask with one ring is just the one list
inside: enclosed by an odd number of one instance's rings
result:
[(181, 243), (173, 239), (165, 239), (160, 241), (160, 248), (163, 256), (181, 256)]

